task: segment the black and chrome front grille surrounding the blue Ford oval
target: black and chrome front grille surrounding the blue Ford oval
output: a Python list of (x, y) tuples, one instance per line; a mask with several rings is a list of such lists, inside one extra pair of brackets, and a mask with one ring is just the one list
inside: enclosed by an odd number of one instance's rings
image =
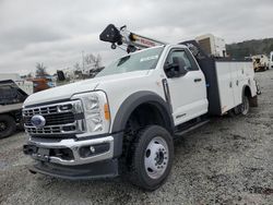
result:
[[(81, 107), (81, 102), (74, 100), (23, 109), (25, 131), (32, 136), (81, 133), (85, 124), (82, 110), (79, 112), (79, 105)], [(45, 118), (46, 123), (43, 128), (33, 125), (32, 118), (36, 114)]]

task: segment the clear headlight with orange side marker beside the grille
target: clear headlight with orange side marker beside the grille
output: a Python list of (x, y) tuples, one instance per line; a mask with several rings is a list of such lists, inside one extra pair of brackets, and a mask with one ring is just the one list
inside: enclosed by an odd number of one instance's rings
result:
[(72, 99), (81, 99), (86, 122), (85, 135), (97, 135), (109, 132), (110, 113), (108, 101), (104, 92), (82, 93), (72, 96)]

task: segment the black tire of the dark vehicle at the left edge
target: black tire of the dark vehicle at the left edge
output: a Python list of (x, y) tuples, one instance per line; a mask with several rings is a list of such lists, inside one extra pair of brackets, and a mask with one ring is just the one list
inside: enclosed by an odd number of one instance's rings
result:
[(9, 114), (0, 114), (0, 138), (10, 136), (16, 130), (14, 118)]

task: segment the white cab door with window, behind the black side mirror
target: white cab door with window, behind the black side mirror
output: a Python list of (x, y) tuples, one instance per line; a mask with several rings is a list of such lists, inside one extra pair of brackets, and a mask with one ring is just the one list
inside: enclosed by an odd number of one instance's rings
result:
[(178, 125), (206, 113), (209, 104), (203, 72), (200, 70), (190, 51), (185, 48), (171, 49), (164, 68), (174, 62), (174, 57), (180, 58), (183, 61), (182, 65), (188, 71), (181, 76), (167, 77), (173, 118), (175, 125)]

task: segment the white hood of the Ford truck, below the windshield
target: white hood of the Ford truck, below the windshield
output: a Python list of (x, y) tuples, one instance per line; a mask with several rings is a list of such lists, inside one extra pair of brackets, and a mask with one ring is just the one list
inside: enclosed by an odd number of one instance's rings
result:
[(71, 83), (68, 85), (54, 87), (54, 88), (38, 92), (28, 96), (26, 100), (24, 101), (24, 106), (69, 99), (74, 94), (94, 91), (96, 89), (96, 87), (98, 87), (100, 84), (104, 84), (104, 83), (117, 81), (122, 84), (123, 81), (130, 82), (128, 80), (145, 76), (147, 75), (147, 73), (149, 71), (135, 71), (135, 72), (129, 72), (129, 73), (114, 74), (114, 75), (95, 77), (95, 79), (85, 80), (85, 81), (81, 81), (76, 83)]

